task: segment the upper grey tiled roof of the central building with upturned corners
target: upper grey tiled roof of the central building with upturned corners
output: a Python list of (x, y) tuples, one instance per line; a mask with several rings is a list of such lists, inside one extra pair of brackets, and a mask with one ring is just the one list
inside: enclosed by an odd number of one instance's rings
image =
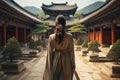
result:
[(68, 3), (51, 3), (51, 5), (42, 5), (42, 10), (46, 15), (49, 15), (51, 19), (55, 19), (55, 17), (59, 14), (64, 15), (66, 18), (74, 15), (77, 10), (77, 5), (68, 5)]

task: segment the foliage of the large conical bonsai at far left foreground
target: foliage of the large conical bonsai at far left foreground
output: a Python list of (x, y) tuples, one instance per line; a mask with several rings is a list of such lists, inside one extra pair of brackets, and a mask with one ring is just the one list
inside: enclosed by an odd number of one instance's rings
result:
[(22, 56), (20, 45), (15, 37), (11, 37), (7, 41), (6, 47), (3, 51), (3, 56), (7, 57), (11, 62), (13, 62), (14, 59), (18, 59)]

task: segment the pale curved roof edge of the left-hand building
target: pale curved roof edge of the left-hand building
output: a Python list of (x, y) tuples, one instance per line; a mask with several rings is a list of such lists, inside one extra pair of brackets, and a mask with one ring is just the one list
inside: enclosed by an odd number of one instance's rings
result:
[(22, 7), (20, 7), (17, 3), (15, 3), (13, 0), (2, 0), (5, 4), (7, 4), (8, 6), (10, 6), (11, 8), (15, 9), (15, 11), (23, 14), (24, 16), (26, 16), (27, 18), (30, 18), (31, 20), (33, 20), (33, 22), (36, 23), (42, 23), (41, 20), (39, 20), (38, 18), (36, 18), (35, 16), (33, 16), (32, 14), (30, 14), (29, 12), (25, 11)]

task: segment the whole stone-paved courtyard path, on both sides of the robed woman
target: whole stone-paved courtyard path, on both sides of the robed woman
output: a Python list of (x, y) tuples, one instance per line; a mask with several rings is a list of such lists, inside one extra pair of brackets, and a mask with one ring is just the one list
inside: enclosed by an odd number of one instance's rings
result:
[[(46, 51), (42, 51), (41, 55), (31, 61), (26, 61), (26, 70), (20, 74), (8, 75), (8, 80), (42, 80), (45, 68)], [(103, 63), (92, 63), (88, 61), (88, 57), (82, 57), (80, 51), (75, 51), (76, 70), (80, 80), (120, 80), (120, 78), (110, 78), (101, 73), (101, 65)], [(104, 70), (104, 69), (103, 69)], [(74, 77), (74, 80), (75, 77)]]

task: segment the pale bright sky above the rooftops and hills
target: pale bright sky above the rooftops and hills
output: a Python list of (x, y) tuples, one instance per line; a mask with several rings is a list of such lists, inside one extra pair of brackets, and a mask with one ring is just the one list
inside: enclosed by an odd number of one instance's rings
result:
[(105, 1), (105, 0), (14, 0), (22, 7), (24, 6), (35, 6), (37, 8), (41, 9), (42, 3), (50, 5), (51, 2), (54, 3), (65, 3), (68, 2), (68, 4), (77, 4), (78, 10), (92, 4), (96, 1)]

